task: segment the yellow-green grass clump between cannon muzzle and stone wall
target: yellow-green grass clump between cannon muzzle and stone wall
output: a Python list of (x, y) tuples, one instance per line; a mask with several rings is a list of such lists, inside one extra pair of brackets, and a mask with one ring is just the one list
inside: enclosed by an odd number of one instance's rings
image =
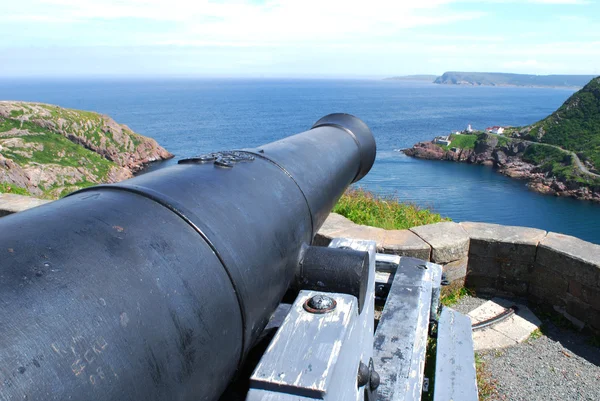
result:
[(425, 224), (449, 221), (438, 213), (421, 209), (416, 205), (401, 203), (394, 197), (373, 195), (362, 189), (350, 189), (340, 198), (333, 212), (356, 224), (403, 230)]

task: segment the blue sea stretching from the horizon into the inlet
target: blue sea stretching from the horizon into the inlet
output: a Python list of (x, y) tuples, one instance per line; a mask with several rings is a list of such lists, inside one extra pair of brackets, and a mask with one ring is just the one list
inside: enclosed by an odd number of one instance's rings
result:
[(600, 204), (541, 195), (489, 167), (396, 151), (467, 124), (530, 124), (572, 93), (378, 80), (0, 81), (0, 99), (108, 114), (176, 158), (258, 146), (305, 131), (326, 114), (351, 113), (369, 125), (378, 147), (363, 188), (455, 221), (537, 227), (600, 244)]

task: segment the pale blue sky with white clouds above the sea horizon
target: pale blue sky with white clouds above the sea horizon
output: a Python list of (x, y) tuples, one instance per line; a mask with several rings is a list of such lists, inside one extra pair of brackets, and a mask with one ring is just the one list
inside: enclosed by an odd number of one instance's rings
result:
[(600, 0), (3, 0), (0, 78), (600, 75)]

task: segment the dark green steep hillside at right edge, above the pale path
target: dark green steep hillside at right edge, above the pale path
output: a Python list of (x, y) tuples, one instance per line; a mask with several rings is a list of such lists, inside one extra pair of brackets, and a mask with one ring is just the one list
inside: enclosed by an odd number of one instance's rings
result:
[(592, 171), (600, 169), (600, 77), (574, 93), (554, 113), (525, 130), (525, 138), (577, 153)]

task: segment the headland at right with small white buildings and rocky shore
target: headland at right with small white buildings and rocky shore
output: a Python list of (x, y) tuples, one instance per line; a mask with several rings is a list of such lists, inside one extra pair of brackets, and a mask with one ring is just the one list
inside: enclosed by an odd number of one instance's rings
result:
[(438, 136), (403, 152), (423, 159), (492, 165), (538, 192), (600, 202), (600, 77), (554, 113), (525, 127)]

